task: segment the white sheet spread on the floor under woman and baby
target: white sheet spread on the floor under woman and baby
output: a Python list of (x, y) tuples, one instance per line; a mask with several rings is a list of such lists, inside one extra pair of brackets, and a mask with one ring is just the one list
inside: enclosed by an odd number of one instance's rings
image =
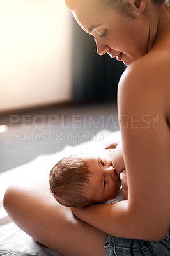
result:
[(3, 208), (3, 196), (6, 188), (15, 182), (31, 182), (31, 180), (40, 179), (40, 175), (47, 177), (49, 172), (62, 157), (84, 152), (88, 154), (102, 153), (109, 142), (119, 141), (121, 139), (120, 131), (110, 132), (103, 130), (98, 132), (94, 140), (76, 145), (74, 147), (67, 145), (62, 151), (55, 154), (40, 155), (33, 161), (13, 168), (0, 174), (0, 255), (5, 256), (59, 256), (58, 253), (44, 248), (36, 243), (33, 238), (20, 230), (15, 223), (8, 217)]

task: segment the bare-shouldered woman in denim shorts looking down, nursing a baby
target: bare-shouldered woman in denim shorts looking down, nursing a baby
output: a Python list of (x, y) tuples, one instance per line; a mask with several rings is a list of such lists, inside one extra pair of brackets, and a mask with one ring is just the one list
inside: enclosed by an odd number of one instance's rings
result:
[(94, 36), (98, 54), (108, 53), (129, 66), (118, 86), (128, 200), (73, 210), (76, 218), (71, 209), (56, 203), (45, 181), (33, 188), (9, 188), (4, 207), (20, 228), (61, 255), (169, 255), (167, 4), (163, 0), (66, 0), (66, 4), (81, 28)]

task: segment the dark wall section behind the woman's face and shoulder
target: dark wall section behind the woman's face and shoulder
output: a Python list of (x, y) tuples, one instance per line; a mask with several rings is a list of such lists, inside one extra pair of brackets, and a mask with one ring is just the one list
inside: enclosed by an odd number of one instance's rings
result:
[(99, 56), (93, 36), (73, 19), (72, 99), (74, 102), (116, 99), (123, 63)]

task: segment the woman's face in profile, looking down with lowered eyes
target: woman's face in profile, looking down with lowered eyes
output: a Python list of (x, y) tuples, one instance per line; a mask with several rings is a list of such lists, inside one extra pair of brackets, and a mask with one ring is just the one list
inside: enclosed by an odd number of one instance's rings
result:
[[(71, 5), (70, 5), (71, 3)], [(93, 35), (99, 55), (130, 65), (148, 52), (148, 26), (144, 15), (132, 19), (98, 0), (66, 0), (81, 28)]]

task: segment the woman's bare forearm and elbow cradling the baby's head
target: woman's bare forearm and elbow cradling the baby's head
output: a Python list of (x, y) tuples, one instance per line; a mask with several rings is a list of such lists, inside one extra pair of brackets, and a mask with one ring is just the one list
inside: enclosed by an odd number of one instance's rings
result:
[(73, 213), (82, 221), (112, 236), (160, 240), (165, 235), (157, 234), (157, 227), (152, 227), (154, 223), (150, 223), (141, 211), (132, 209), (128, 200), (92, 205), (83, 210), (74, 209)]

